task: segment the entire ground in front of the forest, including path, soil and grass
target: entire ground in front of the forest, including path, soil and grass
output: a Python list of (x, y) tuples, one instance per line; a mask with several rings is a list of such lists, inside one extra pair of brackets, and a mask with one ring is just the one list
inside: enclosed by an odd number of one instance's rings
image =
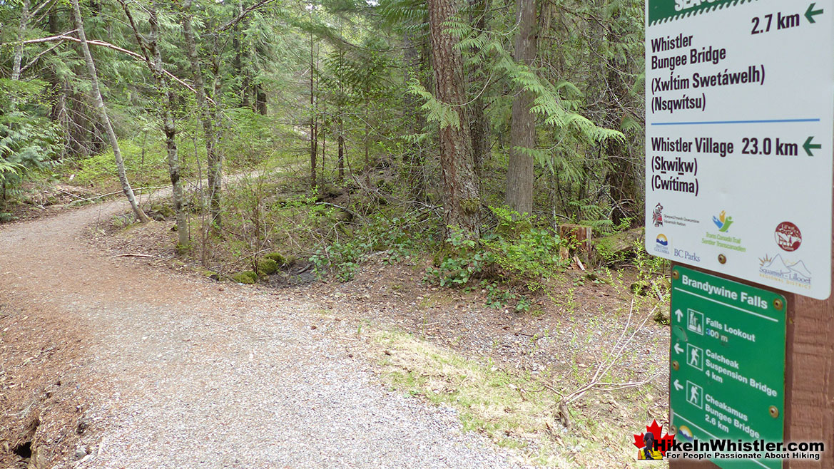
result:
[(666, 420), (627, 272), (565, 272), (535, 314), (420, 259), (244, 287), (178, 262), (170, 222), (100, 229), (123, 212), (0, 228), (0, 467), (631, 467)]

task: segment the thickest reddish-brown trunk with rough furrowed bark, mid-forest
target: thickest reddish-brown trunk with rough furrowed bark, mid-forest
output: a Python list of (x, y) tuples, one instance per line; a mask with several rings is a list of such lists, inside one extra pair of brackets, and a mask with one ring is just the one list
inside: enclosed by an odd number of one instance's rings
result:
[(436, 96), (454, 106), (460, 124), (440, 128), (440, 167), (443, 173), (443, 205), (446, 227), (468, 239), (480, 237), (480, 195), (472, 155), (466, 82), (458, 39), (445, 32), (445, 22), (457, 15), (454, 0), (429, 0), (431, 57), (435, 68)]

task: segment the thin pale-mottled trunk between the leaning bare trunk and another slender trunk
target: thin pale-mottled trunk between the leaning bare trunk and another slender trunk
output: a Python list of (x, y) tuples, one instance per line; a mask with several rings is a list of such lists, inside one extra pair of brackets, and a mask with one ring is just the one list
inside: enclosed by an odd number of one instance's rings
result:
[[(127, 8), (127, 7), (125, 7)], [(168, 82), (163, 73), (162, 52), (158, 47), (159, 37), (159, 23), (155, 6), (149, 6), (148, 12), (150, 17), (150, 37), (148, 37), (148, 48), (150, 55), (148, 63), (153, 64), (153, 75), (156, 77), (157, 87), (159, 88), (160, 97), (165, 97), (167, 102), (160, 102), (159, 113), (163, 122), (163, 132), (165, 133), (165, 147), (168, 149), (168, 175), (171, 177), (171, 198), (173, 202), (173, 212), (177, 216), (177, 238), (178, 247), (188, 247), (188, 221), (183, 210), (183, 186), (179, 182), (179, 155), (177, 152), (177, 128), (174, 125), (171, 112), (174, 107), (174, 96)], [(131, 20), (132, 25), (133, 20)], [(134, 30), (135, 31), (135, 30)], [(137, 37), (139, 32), (136, 31)]]

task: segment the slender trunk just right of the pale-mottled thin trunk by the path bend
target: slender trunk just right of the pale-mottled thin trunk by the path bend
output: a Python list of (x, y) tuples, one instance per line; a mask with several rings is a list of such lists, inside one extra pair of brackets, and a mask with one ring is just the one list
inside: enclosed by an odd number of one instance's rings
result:
[(208, 107), (203, 70), (200, 68), (197, 56), (197, 42), (191, 26), (191, 0), (183, 1), (183, 37), (188, 51), (188, 62), (194, 79), (194, 89), (197, 92), (197, 105), (200, 111), (200, 121), (203, 123), (203, 133), (206, 139), (206, 164), (208, 166), (209, 212), (214, 227), (221, 226), (220, 220), (220, 191), (223, 182), (223, 157), (218, 152), (219, 130), (214, 127), (214, 117)]

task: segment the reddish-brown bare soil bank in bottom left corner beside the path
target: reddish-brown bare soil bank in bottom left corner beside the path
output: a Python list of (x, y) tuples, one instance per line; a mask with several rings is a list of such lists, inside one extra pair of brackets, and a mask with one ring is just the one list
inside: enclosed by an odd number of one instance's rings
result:
[(96, 432), (83, 326), (43, 307), (0, 303), (0, 467), (81, 459)]

